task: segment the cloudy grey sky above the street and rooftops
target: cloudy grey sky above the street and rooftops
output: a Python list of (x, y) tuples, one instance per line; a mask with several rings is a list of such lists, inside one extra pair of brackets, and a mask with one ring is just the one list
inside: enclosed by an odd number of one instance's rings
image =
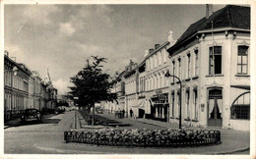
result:
[[(224, 5), (214, 5), (214, 11)], [(59, 94), (69, 91), (91, 55), (107, 58), (113, 75), (146, 49), (177, 39), (205, 17), (205, 5), (5, 5), (5, 49), (40, 77), (47, 68)]]

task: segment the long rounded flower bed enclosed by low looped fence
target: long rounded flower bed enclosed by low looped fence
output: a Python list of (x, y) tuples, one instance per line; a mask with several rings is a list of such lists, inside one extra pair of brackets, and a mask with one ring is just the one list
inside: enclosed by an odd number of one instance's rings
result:
[(66, 142), (96, 145), (177, 147), (221, 143), (221, 132), (214, 130), (88, 130), (64, 132)]

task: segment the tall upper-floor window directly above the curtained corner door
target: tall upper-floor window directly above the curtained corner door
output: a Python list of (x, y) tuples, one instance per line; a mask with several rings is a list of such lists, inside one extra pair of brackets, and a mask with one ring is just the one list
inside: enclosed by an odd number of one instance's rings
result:
[(209, 51), (209, 74), (222, 74), (222, 46), (210, 47)]

